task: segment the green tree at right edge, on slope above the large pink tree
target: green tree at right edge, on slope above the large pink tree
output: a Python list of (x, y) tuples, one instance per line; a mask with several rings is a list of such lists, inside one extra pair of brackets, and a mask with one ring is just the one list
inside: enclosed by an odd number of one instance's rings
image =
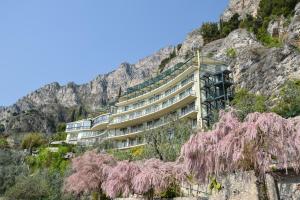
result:
[(273, 111), (282, 117), (300, 115), (300, 80), (289, 80), (282, 87), (279, 101)]

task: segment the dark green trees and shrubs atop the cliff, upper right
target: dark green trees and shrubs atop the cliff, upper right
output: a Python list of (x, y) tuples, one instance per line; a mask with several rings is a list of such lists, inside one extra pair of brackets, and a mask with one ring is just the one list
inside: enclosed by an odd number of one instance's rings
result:
[(220, 23), (207, 22), (198, 31), (202, 34), (205, 43), (224, 38), (237, 28), (246, 28), (253, 32), (257, 39), (268, 47), (279, 47), (282, 45), (281, 39), (272, 37), (268, 31), (268, 25), (273, 19), (284, 16), (290, 19), (294, 14), (294, 8), (300, 0), (261, 0), (257, 17), (247, 15), (243, 20), (235, 14), (228, 22)]

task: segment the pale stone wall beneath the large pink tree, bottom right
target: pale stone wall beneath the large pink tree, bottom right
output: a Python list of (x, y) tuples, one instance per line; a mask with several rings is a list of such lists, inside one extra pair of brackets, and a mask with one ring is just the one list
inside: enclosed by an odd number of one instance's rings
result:
[[(182, 196), (174, 200), (259, 200), (258, 179), (253, 171), (228, 174), (217, 178), (221, 190), (210, 190), (208, 184), (183, 184)], [(269, 200), (299, 200), (300, 175), (294, 172), (266, 174), (266, 193)], [(144, 198), (118, 198), (118, 200), (142, 200)]]

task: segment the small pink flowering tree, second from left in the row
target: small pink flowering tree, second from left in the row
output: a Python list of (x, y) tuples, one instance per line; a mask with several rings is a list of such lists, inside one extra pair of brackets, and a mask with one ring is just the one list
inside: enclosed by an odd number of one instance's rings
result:
[(105, 193), (111, 197), (128, 197), (133, 193), (133, 178), (140, 173), (137, 164), (129, 161), (121, 161), (114, 167), (107, 180), (102, 184)]

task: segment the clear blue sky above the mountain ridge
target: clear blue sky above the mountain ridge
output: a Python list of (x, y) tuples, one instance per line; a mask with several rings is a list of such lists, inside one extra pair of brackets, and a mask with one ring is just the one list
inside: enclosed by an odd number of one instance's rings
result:
[(39, 87), (81, 84), (217, 21), (228, 0), (0, 1), (0, 105)]

